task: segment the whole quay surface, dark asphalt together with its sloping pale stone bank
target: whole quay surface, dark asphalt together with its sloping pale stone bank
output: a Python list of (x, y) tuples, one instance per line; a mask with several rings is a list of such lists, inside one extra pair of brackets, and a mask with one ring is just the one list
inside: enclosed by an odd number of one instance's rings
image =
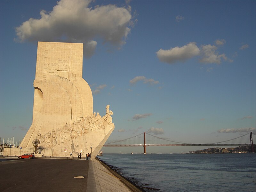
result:
[(141, 191), (96, 159), (0, 158), (0, 173), (3, 192)]

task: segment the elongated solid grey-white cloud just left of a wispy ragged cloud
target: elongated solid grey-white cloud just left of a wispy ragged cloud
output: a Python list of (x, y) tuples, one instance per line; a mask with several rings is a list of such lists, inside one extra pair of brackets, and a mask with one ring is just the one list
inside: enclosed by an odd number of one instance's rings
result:
[(200, 50), (195, 42), (191, 42), (182, 47), (174, 47), (169, 50), (160, 49), (156, 52), (158, 59), (162, 62), (173, 64), (178, 61), (184, 62), (196, 55), (199, 55)]

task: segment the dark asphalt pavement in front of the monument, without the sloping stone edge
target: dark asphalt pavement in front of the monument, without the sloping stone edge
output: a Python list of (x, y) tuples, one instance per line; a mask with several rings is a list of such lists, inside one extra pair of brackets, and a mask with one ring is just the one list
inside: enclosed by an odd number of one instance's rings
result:
[(1, 158), (0, 191), (86, 191), (88, 170), (83, 159)]

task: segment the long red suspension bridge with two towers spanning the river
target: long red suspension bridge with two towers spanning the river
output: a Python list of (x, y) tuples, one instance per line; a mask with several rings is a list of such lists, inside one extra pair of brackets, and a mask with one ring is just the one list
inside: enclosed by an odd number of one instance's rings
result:
[(214, 143), (182, 143), (144, 132), (127, 139), (106, 143), (103, 147), (144, 147), (144, 154), (146, 154), (146, 147), (150, 146), (251, 146), (251, 152), (253, 152), (253, 148), (256, 147), (253, 147), (253, 140), (256, 140), (256, 134), (250, 132), (234, 139)]

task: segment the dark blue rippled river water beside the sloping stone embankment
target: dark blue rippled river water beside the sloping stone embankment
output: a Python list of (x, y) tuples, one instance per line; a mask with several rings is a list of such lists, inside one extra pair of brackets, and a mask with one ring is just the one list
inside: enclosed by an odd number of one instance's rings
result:
[(256, 154), (103, 154), (100, 159), (158, 192), (256, 192)]

